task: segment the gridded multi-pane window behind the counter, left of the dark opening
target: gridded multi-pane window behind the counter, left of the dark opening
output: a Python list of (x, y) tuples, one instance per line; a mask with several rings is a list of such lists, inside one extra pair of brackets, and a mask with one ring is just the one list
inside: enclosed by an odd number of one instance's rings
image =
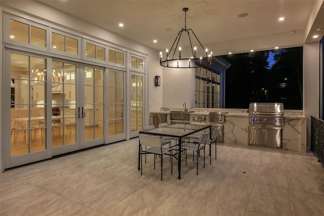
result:
[(195, 107), (220, 108), (220, 75), (197, 67), (195, 77)]

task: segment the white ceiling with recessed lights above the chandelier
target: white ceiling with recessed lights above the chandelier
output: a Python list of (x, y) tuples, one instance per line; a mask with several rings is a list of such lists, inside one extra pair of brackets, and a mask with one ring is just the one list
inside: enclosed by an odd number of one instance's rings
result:
[[(324, 34), (324, 4), (309, 24), (314, 3), (306, 1), (109, 1), (109, 0), (39, 0), (52, 8), (122, 35), (154, 50), (170, 48), (184, 28), (191, 28), (202, 44), (292, 33), (303, 30), (305, 41), (319, 41)], [(239, 14), (248, 13), (246, 17)], [(284, 17), (284, 21), (278, 21)], [(124, 27), (118, 24), (123, 23)], [(305, 30), (308, 28), (307, 30)], [(316, 30), (319, 29), (319, 30)], [(313, 34), (317, 39), (312, 39)], [(157, 40), (157, 43), (153, 43)]]

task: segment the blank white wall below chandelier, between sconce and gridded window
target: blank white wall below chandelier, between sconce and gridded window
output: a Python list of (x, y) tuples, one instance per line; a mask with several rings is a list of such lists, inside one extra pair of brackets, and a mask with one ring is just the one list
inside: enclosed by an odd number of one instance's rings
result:
[(186, 102), (187, 108), (194, 107), (195, 77), (194, 69), (163, 68), (163, 106), (182, 108)]

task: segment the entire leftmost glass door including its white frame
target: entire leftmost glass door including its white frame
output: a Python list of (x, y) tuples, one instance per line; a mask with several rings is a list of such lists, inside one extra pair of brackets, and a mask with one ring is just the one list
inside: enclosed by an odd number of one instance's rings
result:
[(42, 56), (5, 51), (4, 168), (51, 157), (46, 135), (47, 80), (41, 76), (48, 62)]

